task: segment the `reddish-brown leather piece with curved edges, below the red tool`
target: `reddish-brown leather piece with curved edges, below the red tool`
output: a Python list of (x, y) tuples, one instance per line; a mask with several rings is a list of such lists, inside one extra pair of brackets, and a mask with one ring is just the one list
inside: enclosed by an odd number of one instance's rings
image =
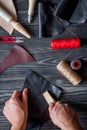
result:
[(7, 54), (2, 63), (0, 63), (0, 73), (5, 71), (12, 65), (22, 62), (32, 62), (35, 58), (31, 56), (24, 48), (19, 45), (15, 45), (12, 50)]

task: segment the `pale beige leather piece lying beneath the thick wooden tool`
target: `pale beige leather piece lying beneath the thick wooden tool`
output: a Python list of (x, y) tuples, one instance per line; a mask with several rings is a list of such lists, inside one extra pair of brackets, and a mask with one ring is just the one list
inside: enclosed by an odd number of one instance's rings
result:
[[(0, 0), (0, 6), (4, 7), (4, 9), (7, 10), (15, 20), (17, 20), (17, 14), (12, 0)], [(14, 27), (10, 23), (7, 23), (2, 17), (0, 17), (0, 26), (9, 34), (12, 34), (14, 30)]]

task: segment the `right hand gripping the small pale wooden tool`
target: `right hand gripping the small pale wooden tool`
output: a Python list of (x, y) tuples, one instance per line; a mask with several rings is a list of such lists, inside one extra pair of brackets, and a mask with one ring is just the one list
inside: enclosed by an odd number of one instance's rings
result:
[(68, 104), (50, 103), (49, 115), (53, 123), (62, 130), (82, 130), (77, 113)]

